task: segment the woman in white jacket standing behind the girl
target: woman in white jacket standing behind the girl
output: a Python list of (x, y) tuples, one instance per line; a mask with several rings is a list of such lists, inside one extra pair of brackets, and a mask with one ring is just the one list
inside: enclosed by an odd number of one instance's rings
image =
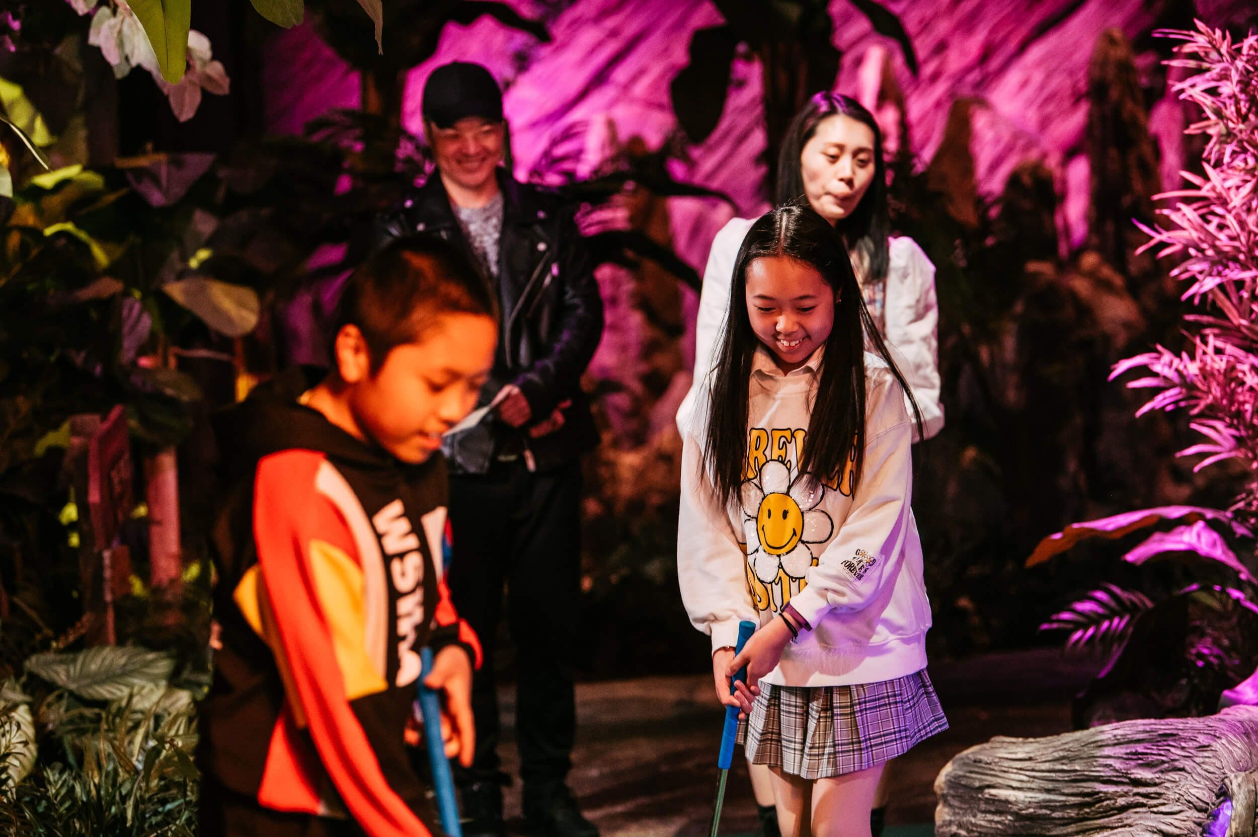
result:
[[(913, 441), (933, 437), (944, 428), (935, 266), (913, 239), (889, 234), (882, 132), (873, 115), (847, 96), (814, 96), (782, 140), (775, 196), (779, 205), (806, 198), (842, 235), (873, 322), (917, 400), (922, 423), (921, 429), (915, 425)], [(712, 242), (694, 329), (694, 383), (677, 413), (683, 434), (712, 373), (733, 262), (752, 222), (735, 218)], [(776, 837), (767, 770), (752, 765), (751, 778), (761, 837)], [(876, 809), (874, 834), (883, 811)]]

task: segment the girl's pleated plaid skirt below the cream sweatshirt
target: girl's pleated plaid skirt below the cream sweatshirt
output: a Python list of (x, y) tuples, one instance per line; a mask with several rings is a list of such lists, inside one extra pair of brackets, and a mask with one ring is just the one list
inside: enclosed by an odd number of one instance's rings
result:
[(923, 668), (857, 686), (762, 682), (738, 743), (752, 764), (813, 780), (883, 764), (946, 729)]

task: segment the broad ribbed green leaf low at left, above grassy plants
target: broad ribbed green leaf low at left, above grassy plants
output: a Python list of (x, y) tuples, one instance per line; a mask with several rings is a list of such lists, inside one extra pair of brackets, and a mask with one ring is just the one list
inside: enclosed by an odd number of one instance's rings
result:
[(75, 653), (42, 653), (26, 671), (86, 700), (113, 701), (136, 686), (170, 680), (175, 661), (165, 653), (133, 646), (99, 646)]

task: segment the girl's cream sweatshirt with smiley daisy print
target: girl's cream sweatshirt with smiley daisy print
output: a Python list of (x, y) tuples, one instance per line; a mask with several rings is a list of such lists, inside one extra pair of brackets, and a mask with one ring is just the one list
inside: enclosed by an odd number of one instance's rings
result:
[(708, 388), (682, 422), (677, 571), (682, 599), (712, 648), (733, 646), (738, 622), (765, 624), (789, 602), (811, 631), (786, 646), (765, 681), (781, 686), (879, 682), (926, 667), (931, 609), (910, 507), (912, 422), (887, 365), (866, 354), (866, 459), (853, 491), (801, 478), (809, 404), (823, 350), (790, 374), (756, 351), (745, 482), (721, 508), (703, 467)]

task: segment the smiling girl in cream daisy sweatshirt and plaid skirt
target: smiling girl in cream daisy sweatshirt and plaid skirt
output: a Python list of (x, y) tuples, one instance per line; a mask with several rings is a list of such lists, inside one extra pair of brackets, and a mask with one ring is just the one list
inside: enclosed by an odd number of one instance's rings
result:
[[(683, 427), (682, 598), (718, 697), (749, 715), (782, 833), (863, 837), (882, 765), (947, 726), (910, 507), (921, 417), (813, 209), (751, 225), (728, 310)], [(760, 628), (735, 657), (742, 619)]]

